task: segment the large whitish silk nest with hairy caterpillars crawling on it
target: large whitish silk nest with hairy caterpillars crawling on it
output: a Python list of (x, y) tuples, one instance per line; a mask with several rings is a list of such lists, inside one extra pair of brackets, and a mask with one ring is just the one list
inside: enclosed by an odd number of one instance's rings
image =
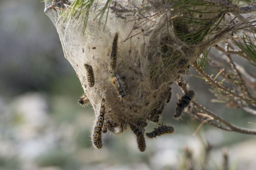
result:
[[(161, 121), (166, 103), (172, 97), (171, 85), (188, 73), (202, 52), (236, 28), (224, 24), (225, 28), (212, 31), (203, 39), (189, 39), (186, 35), (209, 30), (211, 23), (211, 28), (215, 28), (225, 11), (220, 15), (218, 11), (222, 7), (214, 6), (210, 14), (201, 15), (207, 12), (206, 7), (198, 9), (201, 6), (191, 5), (192, 11), (202, 10), (193, 13), (193, 19), (204, 22), (210, 18), (211, 22), (187, 27), (183, 22), (191, 18), (191, 13), (175, 8), (176, 1), (90, 1), (90, 8), (80, 10), (87, 11), (88, 16), (78, 21), (75, 16), (74, 20), (68, 19), (70, 22), (62, 22), (60, 15), (69, 11), (71, 2), (76, 1), (45, 1), (45, 13), (55, 25), (65, 58), (81, 82), (84, 95), (78, 102), (82, 106), (90, 103), (95, 112), (91, 136), (95, 148), (104, 145), (102, 133), (121, 134), (128, 126), (139, 150), (145, 151), (145, 127), (147, 122)], [(90, 15), (105, 9), (105, 2), (109, 3), (107, 10)], [(225, 20), (229, 19), (225, 15)], [(82, 21), (87, 24), (76, 27)], [(193, 96), (192, 90), (186, 92), (177, 104), (174, 117), (181, 116)], [(162, 125), (146, 136), (154, 138), (173, 131), (173, 127)]]

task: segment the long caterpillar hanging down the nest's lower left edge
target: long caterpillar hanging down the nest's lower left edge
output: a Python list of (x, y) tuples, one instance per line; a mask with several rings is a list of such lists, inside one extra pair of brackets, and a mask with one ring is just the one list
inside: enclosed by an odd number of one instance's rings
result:
[(101, 131), (102, 131), (102, 126), (104, 122), (104, 114), (105, 114), (105, 99), (103, 98), (101, 101), (99, 116), (97, 118), (97, 122), (93, 129), (92, 138), (91, 138), (93, 146), (95, 146), (98, 149), (102, 147)]

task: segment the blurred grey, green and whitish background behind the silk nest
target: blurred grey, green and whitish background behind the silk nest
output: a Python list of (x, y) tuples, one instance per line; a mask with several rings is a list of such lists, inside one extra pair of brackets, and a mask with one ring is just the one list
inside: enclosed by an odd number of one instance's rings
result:
[[(91, 106), (81, 107), (78, 78), (64, 58), (56, 29), (39, 0), (0, 1), (0, 169), (3, 170), (173, 170), (186, 169), (186, 148), (195, 169), (201, 169), (206, 142), (212, 146), (206, 169), (222, 169), (222, 148), (228, 149), (229, 169), (256, 169), (256, 137), (225, 132), (184, 115), (175, 121), (178, 85), (166, 106), (163, 122), (175, 133), (148, 140), (141, 153), (131, 130), (105, 134), (100, 150), (91, 147), (95, 119)], [(255, 68), (243, 63), (251, 74)], [(211, 73), (211, 70), (206, 72)], [(195, 74), (191, 69), (190, 74)], [(231, 123), (256, 128), (256, 116), (225, 104), (211, 103), (209, 86), (186, 76), (196, 101)], [(157, 125), (151, 124), (146, 132)]]

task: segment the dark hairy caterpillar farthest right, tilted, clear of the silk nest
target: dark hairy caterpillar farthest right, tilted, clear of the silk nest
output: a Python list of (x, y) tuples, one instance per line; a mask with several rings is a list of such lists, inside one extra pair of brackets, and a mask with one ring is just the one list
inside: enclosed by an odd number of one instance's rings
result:
[(193, 90), (186, 91), (186, 93), (182, 96), (179, 103), (177, 102), (176, 113), (173, 115), (174, 118), (179, 118), (185, 109), (190, 103), (190, 101), (195, 96), (195, 92)]

